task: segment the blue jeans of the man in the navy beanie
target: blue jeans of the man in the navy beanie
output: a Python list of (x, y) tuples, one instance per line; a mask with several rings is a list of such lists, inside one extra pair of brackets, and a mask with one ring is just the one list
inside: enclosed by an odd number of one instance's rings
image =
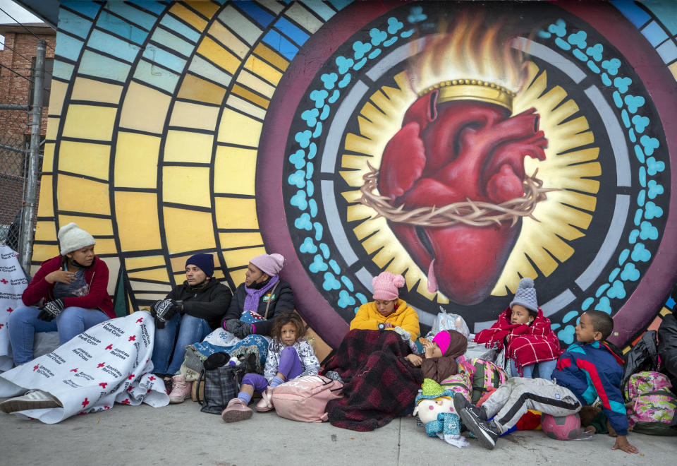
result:
[(211, 332), (205, 319), (188, 314), (176, 314), (164, 328), (156, 328), (151, 359), (155, 374), (176, 374), (183, 364), (185, 347), (201, 342)]

